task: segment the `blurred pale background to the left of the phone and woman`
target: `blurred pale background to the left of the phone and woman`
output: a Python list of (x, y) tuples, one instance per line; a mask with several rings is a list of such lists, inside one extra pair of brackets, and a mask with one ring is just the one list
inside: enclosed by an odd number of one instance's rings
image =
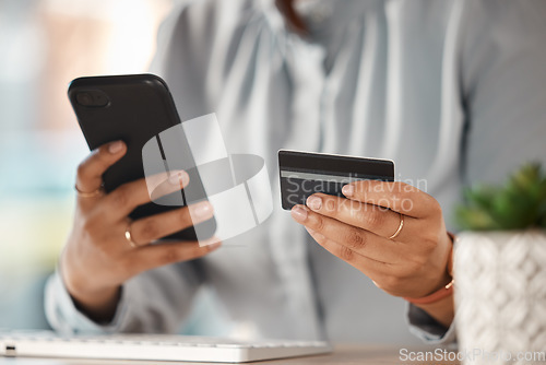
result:
[(88, 153), (69, 82), (146, 71), (174, 5), (0, 0), (0, 328), (48, 328), (44, 283), (72, 222), (76, 165)]

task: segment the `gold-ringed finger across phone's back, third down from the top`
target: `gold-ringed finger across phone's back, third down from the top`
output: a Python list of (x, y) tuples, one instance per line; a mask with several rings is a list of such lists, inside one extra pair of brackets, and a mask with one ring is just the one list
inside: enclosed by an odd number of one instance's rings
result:
[(131, 224), (131, 237), (135, 245), (146, 245), (210, 220), (212, 216), (212, 204), (207, 201), (202, 201), (197, 204), (134, 221)]

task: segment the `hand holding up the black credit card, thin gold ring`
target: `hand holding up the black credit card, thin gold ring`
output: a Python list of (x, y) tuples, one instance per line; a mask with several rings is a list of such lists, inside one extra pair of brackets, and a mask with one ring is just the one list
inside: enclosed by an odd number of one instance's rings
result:
[[(314, 193), (307, 207), (294, 207), (292, 216), (322, 247), (391, 295), (418, 298), (451, 281), (452, 243), (432, 197), (404, 182), (377, 180), (352, 182), (343, 193), (348, 199)], [(402, 229), (390, 239), (401, 220)], [(453, 317), (451, 298), (447, 303), (444, 313), (430, 313), (444, 325)]]

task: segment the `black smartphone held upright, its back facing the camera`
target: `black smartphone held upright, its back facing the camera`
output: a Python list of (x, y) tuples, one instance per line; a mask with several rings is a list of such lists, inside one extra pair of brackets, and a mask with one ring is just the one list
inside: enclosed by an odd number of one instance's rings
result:
[[(127, 154), (110, 166), (103, 175), (106, 192), (122, 184), (144, 177), (142, 149), (153, 138), (176, 125), (180, 118), (173, 96), (163, 79), (154, 74), (131, 74), (79, 78), (70, 83), (68, 95), (87, 141), (90, 150), (102, 144), (121, 140), (127, 144)], [(193, 161), (188, 141), (179, 141), (183, 146), (186, 161)], [(194, 164), (190, 164), (194, 166)], [(206, 195), (197, 168), (188, 170), (193, 193), (193, 203), (205, 200)], [(175, 192), (179, 193), (179, 192)], [(183, 191), (182, 191), (183, 195)], [(182, 204), (183, 205), (183, 204)], [(150, 202), (138, 207), (130, 217), (138, 220), (162, 213), (180, 205), (161, 205)], [(199, 224), (199, 238), (211, 237), (216, 229), (213, 219)], [(204, 237), (203, 233), (207, 237)], [(189, 227), (165, 239), (198, 239), (195, 228)]]

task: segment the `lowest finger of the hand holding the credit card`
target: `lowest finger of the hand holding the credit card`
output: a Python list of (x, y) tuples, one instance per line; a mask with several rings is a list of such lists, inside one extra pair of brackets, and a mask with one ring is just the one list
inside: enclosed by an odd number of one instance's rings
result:
[(391, 264), (361, 256), (357, 251), (327, 236), (306, 227), (311, 237), (330, 254), (360, 270), (368, 278), (376, 278), (390, 271)]

